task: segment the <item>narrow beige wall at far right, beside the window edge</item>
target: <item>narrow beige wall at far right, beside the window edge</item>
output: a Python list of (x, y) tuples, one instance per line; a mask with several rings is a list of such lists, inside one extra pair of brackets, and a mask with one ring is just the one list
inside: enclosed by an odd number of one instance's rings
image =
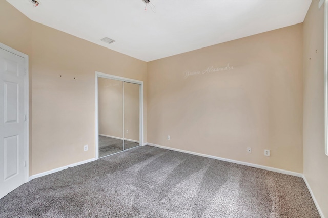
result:
[(328, 156), (324, 148), (324, 7), (318, 9), (318, 2), (312, 1), (303, 23), (304, 176), (324, 216), (328, 217)]

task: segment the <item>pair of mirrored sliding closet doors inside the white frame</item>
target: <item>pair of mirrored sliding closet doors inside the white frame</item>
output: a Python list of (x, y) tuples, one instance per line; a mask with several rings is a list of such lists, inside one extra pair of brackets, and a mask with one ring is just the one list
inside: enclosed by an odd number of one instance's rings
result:
[(98, 78), (99, 158), (139, 146), (139, 117), (139, 84)]

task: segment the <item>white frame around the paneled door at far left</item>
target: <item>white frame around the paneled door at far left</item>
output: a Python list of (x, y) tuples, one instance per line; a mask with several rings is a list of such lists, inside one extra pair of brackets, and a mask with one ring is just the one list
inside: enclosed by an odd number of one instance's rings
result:
[(25, 183), (29, 181), (29, 56), (22, 52), (19, 52), (8, 45), (0, 42), (0, 49), (6, 50), (14, 55), (24, 58), (24, 114), (25, 114), (25, 124), (24, 124), (24, 158), (25, 158)]

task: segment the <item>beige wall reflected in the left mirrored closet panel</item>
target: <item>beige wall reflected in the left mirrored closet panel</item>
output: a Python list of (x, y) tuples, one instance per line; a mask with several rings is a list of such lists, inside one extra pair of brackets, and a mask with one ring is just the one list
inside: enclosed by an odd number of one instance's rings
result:
[(123, 82), (98, 79), (99, 134), (123, 138)]

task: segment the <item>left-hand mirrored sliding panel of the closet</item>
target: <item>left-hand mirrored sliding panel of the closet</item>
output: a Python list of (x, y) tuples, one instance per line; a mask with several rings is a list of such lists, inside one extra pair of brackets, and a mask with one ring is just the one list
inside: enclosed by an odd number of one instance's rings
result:
[(99, 77), (99, 157), (124, 150), (123, 102), (123, 82)]

